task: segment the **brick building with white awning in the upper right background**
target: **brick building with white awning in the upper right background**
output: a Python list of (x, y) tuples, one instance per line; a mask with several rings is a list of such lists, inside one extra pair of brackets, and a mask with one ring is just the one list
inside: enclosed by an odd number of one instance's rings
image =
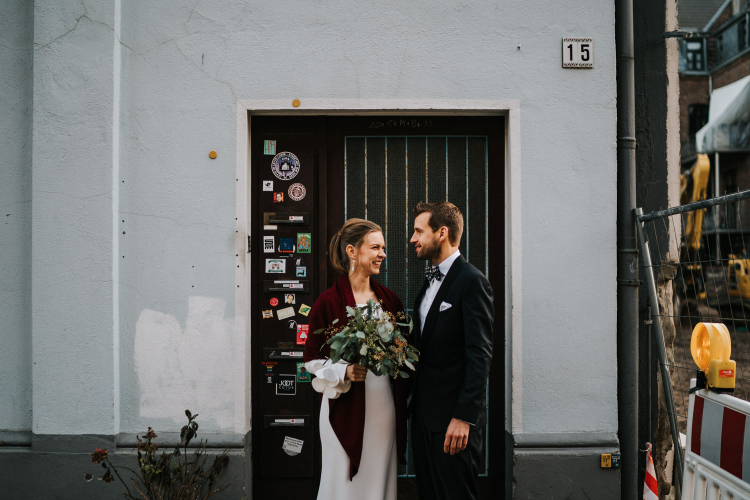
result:
[[(681, 163), (688, 169), (696, 154), (709, 155), (708, 196), (750, 187), (750, 129), (744, 117), (750, 111), (748, 16), (746, 0), (679, 2), (680, 31), (691, 32), (679, 40)], [(706, 217), (712, 253), (739, 250), (739, 221), (750, 220), (750, 214), (730, 212)]]

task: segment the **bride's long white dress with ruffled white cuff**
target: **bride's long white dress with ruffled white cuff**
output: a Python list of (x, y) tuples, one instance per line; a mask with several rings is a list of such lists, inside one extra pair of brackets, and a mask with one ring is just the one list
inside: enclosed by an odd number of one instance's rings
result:
[(329, 421), (329, 399), (349, 391), (347, 364), (331, 360), (308, 361), (305, 367), (316, 378), (316, 391), (323, 393), (320, 406), (320, 442), (323, 469), (318, 500), (395, 500), (396, 499), (396, 414), (391, 379), (368, 371), (365, 382), (365, 435), (359, 472), (349, 481), (349, 457)]

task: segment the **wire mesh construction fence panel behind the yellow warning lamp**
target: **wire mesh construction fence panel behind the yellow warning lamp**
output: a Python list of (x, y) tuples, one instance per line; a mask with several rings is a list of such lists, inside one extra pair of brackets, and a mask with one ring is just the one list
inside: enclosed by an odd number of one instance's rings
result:
[[(664, 385), (664, 392), (675, 442), (679, 442), (676, 431), (685, 433), (690, 379), (697, 376), (690, 343), (699, 322), (727, 326), (731, 358), (736, 361), (733, 396), (750, 397), (748, 209), (750, 190), (637, 214), (654, 333), (663, 348), (659, 352), (662, 377), (664, 370), (671, 372), (673, 388)], [(676, 459), (681, 456), (676, 451)]]

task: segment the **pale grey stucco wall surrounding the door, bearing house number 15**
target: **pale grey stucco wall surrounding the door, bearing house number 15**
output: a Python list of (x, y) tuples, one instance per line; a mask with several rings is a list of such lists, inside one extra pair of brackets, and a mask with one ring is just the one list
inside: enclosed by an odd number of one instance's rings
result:
[[(249, 429), (238, 103), (294, 98), (517, 103), (512, 429), (616, 432), (613, 4), (444, 3), (37, 4), (35, 432), (140, 432), (186, 407)], [(568, 36), (593, 37), (594, 69), (560, 67)]]

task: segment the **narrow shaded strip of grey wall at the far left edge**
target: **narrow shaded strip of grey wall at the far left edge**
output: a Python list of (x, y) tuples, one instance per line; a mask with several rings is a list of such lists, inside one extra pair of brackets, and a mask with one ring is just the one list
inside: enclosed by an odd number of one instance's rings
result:
[(31, 431), (33, 10), (23, 0), (0, 8), (0, 433)]

